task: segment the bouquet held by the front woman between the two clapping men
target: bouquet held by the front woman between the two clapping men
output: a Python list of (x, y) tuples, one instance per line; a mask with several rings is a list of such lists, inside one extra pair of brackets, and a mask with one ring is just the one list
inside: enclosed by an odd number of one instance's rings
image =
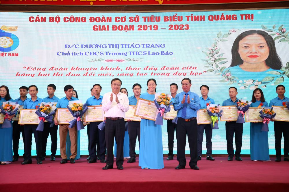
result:
[(170, 107), (170, 105), (172, 104), (171, 98), (172, 98), (171, 95), (165, 93), (155, 94), (155, 99), (153, 101), (155, 102), (155, 106), (159, 110), (157, 119), (155, 120), (155, 125), (163, 125), (162, 116), (164, 115), (164, 113), (171, 111)]

